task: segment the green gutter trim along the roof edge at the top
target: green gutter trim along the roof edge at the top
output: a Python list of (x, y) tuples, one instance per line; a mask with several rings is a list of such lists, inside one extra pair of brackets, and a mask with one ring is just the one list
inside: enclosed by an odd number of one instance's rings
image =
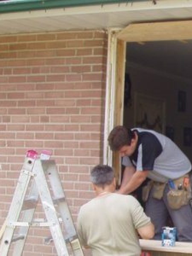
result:
[(0, 13), (138, 1), (139, 0), (8, 0), (0, 1)]

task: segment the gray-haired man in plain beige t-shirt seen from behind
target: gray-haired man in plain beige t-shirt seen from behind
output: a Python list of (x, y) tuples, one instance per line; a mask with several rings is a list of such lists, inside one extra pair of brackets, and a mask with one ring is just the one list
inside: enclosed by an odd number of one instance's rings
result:
[(95, 166), (90, 174), (96, 197), (81, 206), (77, 220), (79, 240), (93, 256), (140, 256), (139, 236), (151, 239), (154, 225), (131, 195), (115, 193), (113, 169)]

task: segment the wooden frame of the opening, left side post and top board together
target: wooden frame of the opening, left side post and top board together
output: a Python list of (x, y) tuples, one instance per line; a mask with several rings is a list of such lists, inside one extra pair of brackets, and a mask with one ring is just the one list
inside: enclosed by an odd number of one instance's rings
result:
[(113, 166), (119, 184), (121, 160), (118, 152), (111, 152), (107, 138), (113, 127), (123, 124), (126, 42), (188, 39), (192, 39), (192, 20), (134, 23), (123, 29), (108, 31), (104, 163)]

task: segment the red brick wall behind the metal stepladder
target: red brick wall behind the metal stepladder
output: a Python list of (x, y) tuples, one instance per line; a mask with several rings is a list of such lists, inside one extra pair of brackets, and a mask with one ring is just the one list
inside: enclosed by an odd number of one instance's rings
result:
[[(0, 36), (0, 224), (29, 149), (53, 151), (74, 221), (93, 197), (89, 172), (102, 162), (106, 56), (102, 31)], [(31, 230), (24, 255), (55, 255), (42, 245), (45, 234)]]

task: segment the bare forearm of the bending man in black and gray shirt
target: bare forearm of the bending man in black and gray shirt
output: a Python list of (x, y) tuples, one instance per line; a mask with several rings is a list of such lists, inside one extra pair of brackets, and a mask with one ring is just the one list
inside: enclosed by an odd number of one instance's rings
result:
[(125, 184), (124, 186), (121, 186), (118, 193), (125, 194), (125, 195), (130, 194), (135, 189), (137, 189), (138, 186), (141, 185), (141, 183), (143, 183), (143, 181), (146, 179), (147, 175), (148, 175), (148, 171), (136, 171), (132, 175), (132, 177), (128, 181), (128, 183)]

